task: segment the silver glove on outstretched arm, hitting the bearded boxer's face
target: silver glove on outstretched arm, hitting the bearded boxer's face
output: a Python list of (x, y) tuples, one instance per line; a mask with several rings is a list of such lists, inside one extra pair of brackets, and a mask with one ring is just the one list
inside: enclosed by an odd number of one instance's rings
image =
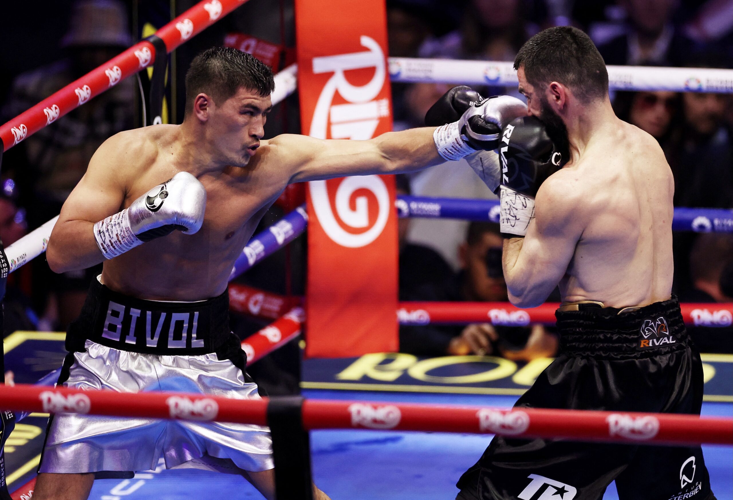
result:
[(495, 95), (472, 103), (460, 120), (435, 129), (435, 147), (446, 160), (457, 160), (477, 150), (496, 150), (507, 123), (527, 114), (527, 106), (511, 95)]

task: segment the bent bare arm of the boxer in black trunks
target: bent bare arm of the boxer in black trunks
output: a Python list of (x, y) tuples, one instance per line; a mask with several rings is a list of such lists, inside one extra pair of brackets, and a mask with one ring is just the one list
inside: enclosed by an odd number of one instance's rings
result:
[(515, 306), (539, 306), (564, 276), (583, 234), (579, 206), (578, 192), (563, 177), (550, 177), (537, 191), (526, 237), (504, 240), (504, 279)]

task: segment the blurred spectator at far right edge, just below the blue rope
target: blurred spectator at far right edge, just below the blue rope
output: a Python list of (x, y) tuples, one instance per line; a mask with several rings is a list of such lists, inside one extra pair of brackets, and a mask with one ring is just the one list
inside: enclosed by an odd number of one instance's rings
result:
[[(705, 233), (695, 240), (690, 252), (690, 279), (693, 289), (680, 297), (685, 302), (732, 302), (733, 290), (723, 291), (726, 264), (733, 262), (733, 235)], [(727, 278), (730, 279), (730, 278)], [(702, 317), (701, 323), (710, 318)], [(733, 326), (690, 326), (690, 337), (702, 353), (733, 353)]]

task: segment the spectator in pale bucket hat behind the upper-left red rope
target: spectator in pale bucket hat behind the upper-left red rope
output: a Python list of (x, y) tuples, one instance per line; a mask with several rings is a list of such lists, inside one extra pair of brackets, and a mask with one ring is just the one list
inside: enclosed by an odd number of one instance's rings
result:
[[(67, 57), (15, 78), (2, 112), (4, 120), (48, 98), (132, 43), (127, 10), (121, 1), (77, 1), (70, 19), (70, 29), (62, 40)], [(18, 183), (20, 202), (28, 209), (32, 227), (59, 214), (66, 197), (86, 172), (92, 153), (103, 141), (133, 127), (133, 102), (133, 80), (119, 81), (7, 152), (3, 171), (10, 172)], [(49, 120), (55, 119), (55, 112), (53, 107), (48, 109)], [(48, 266), (34, 263), (34, 279), (43, 283), (43, 287), (36, 288), (45, 291), (50, 287), (52, 291), (45, 305), (37, 304), (46, 311), (45, 328), (65, 328), (78, 316), (89, 280), (100, 267), (55, 275)]]

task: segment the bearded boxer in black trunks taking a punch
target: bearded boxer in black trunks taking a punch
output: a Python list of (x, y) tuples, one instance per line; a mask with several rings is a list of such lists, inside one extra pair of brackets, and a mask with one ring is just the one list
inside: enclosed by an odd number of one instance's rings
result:
[[(512, 303), (539, 306), (558, 284), (563, 298), (559, 356), (516, 406), (699, 414), (701, 361), (671, 295), (674, 182), (662, 150), (616, 118), (603, 59), (580, 30), (540, 32), (515, 68), (529, 116), (504, 128), (500, 164), (492, 152), (467, 159), (501, 194)], [(450, 92), (428, 117), (474, 100)], [(609, 426), (655, 433), (622, 415)], [(700, 446), (496, 436), (457, 500), (596, 500), (614, 480), (622, 500), (715, 498)]]

